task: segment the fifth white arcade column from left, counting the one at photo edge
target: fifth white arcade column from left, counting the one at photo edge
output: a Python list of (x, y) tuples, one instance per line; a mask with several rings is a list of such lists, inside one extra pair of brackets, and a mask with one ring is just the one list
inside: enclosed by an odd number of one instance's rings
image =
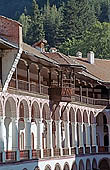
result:
[(53, 156), (52, 147), (52, 121), (46, 120), (47, 122), (47, 149), (51, 149), (51, 155)]

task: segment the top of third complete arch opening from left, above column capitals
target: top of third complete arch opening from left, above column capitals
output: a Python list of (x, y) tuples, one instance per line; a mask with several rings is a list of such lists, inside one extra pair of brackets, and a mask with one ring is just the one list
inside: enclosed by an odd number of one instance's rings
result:
[(32, 107), (31, 107), (31, 118), (32, 121), (35, 120), (35, 118), (40, 119), (40, 108), (39, 105), (36, 101), (33, 102)]

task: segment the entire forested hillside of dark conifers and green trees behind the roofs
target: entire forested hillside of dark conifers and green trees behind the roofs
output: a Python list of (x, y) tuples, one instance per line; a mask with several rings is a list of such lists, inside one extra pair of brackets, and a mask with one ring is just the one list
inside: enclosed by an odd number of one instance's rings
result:
[(110, 0), (0, 0), (0, 14), (22, 23), (28, 44), (46, 39), (47, 50), (110, 58)]

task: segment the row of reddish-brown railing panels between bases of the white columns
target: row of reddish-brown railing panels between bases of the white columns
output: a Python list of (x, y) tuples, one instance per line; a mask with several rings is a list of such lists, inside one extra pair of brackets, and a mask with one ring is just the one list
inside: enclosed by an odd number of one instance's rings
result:
[[(21, 150), (20, 152), (20, 160), (29, 160), (29, 150)], [(2, 163), (2, 154), (0, 153), (0, 163)], [(16, 161), (16, 151), (7, 151), (6, 152), (6, 162)], [(78, 154), (79, 156), (84, 154), (83, 147), (78, 148), (78, 153), (76, 153), (76, 148), (71, 148), (71, 154), (75, 155)], [(96, 154), (96, 146), (85, 147), (85, 155), (86, 154)], [(97, 154), (110, 154), (110, 147), (108, 146), (98, 146), (98, 153)], [(69, 155), (69, 148), (63, 148), (63, 156)], [(53, 156), (59, 157), (61, 156), (60, 148), (53, 148)], [(43, 150), (43, 158), (51, 157), (51, 149), (44, 149)], [(32, 159), (39, 159), (41, 158), (41, 150), (32, 150)]]

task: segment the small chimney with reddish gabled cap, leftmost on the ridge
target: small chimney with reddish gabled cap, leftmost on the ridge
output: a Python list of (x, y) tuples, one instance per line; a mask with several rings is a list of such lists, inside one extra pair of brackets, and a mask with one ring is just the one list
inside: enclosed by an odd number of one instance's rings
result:
[(40, 40), (32, 45), (32, 47), (36, 48), (40, 52), (45, 52), (45, 45), (47, 44), (46, 40)]

